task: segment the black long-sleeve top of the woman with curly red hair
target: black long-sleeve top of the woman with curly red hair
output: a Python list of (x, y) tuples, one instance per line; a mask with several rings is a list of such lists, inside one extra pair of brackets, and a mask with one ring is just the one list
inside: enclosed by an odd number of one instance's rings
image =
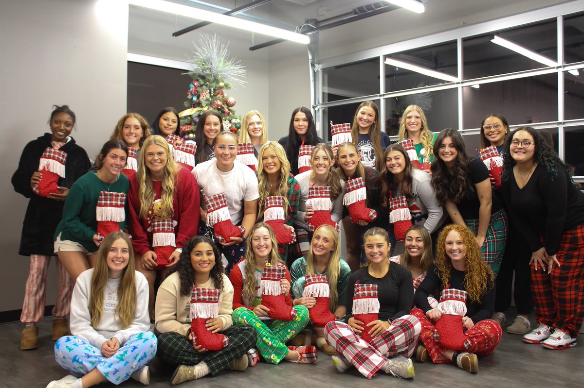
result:
[[(459, 271), (456, 269), (450, 270), (450, 287), (456, 288), (457, 290), (466, 291), (464, 287), (464, 274), (465, 271)], [(471, 301), (470, 297), (467, 297), (467, 315), (468, 318), (472, 319), (472, 322), (477, 323), (484, 319), (489, 319), (493, 316), (495, 312), (495, 286), (490, 283), (487, 279), (487, 290), (482, 295), (481, 301)], [(444, 289), (442, 287), (442, 280), (440, 280), (440, 275), (436, 266), (430, 267), (426, 278), (422, 280), (422, 283), (418, 286), (415, 294), (413, 295), (413, 301), (416, 307), (422, 309), (424, 313), (432, 309), (432, 306), (428, 303), (428, 295), (432, 295), (432, 292), (439, 288), (440, 292)]]

